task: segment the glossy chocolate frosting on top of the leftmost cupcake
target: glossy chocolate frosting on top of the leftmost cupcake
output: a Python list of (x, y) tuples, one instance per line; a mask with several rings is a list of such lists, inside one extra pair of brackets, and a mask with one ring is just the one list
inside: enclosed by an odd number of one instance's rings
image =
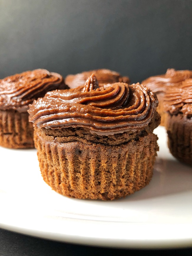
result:
[(45, 69), (15, 74), (0, 80), (0, 109), (25, 112), (29, 103), (43, 97), (46, 92), (65, 88), (67, 86), (60, 74)]

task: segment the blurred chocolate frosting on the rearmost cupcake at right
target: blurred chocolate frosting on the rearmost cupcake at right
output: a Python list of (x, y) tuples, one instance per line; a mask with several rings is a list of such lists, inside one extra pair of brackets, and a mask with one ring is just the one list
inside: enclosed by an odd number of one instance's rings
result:
[(142, 82), (154, 93), (165, 92), (167, 86), (179, 86), (184, 80), (192, 78), (190, 70), (167, 69), (166, 74), (149, 77)]

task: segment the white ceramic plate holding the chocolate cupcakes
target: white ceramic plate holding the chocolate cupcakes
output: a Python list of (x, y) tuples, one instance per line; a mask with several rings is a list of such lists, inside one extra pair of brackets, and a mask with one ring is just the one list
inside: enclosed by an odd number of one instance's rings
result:
[(71, 199), (43, 181), (36, 150), (0, 147), (0, 227), (23, 234), (118, 248), (192, 245), (192, 168), (169, 153), (164, 127), (150, 184), (115, 201)]

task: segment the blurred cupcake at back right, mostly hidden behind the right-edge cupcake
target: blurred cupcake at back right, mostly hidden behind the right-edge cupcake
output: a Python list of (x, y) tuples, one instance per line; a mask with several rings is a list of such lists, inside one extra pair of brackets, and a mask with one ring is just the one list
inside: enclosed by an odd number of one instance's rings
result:
[(143, 85), (146, 85), (148, 88), (152, 90), (152, 92), (156, 93), (159, 105), (157, 107), (157, 112), (161, 116), (161, 125), (165, 126), (167, 113), (164, 108), (164, 95), (167, 88), (170, 86), (177, 87), (179, 86), (185, 79), (192, 77), (192, 71), (189, 70), (178, 70), (175, 69), (167, 69), (166, 74), (158, 75), (154, 77), (149, 77), (148, 79), (142, 82)]

